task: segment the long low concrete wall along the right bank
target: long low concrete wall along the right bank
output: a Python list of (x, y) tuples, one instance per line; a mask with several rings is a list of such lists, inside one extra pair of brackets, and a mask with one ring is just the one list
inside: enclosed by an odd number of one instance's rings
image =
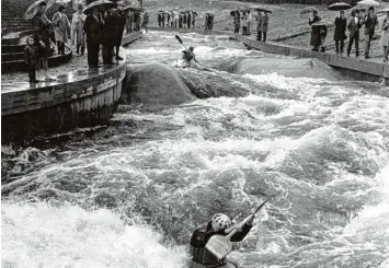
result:
[[(361, 81), (384, 82), (389, 84), (389, 65), (365, 60), (361, 58), (350, 58), (345, 55), (335, 55), (332, 53), (311, 51), (306, 48), (281, 44), (276, 42), (256, 42), (255, 37), (237, 35), (226, 31), (204, 31), (202, 28), (167, 28), (156, 27), (156, 31), (180, 32), (180, 33), (197, 33), (207, 35), (227, 35), (231, 39), (239, 40), (245, 46), (262, 50), (270, 54), (278, 54), (299, 58), (316, 58), (340, 71), (343, 75)], [(384, 81), (382, 81), (384, 80)]]

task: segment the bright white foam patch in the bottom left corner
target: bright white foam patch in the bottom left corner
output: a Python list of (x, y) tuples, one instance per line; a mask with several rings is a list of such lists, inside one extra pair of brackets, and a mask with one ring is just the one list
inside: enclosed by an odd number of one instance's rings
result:
[(151, 226), (105, 209), (2, 202), (1, 213), (2, 267), (181, 268), (187, 258)]

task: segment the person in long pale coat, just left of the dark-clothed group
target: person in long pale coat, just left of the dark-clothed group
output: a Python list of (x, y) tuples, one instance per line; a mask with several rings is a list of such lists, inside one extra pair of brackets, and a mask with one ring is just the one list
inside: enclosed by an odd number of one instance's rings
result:
[(85, 22), (85, 15), (82, 13), (82, 4), (77, 7), (77, 12), (73, 14), (71, 19), (71, 40), (76, 46), (77, 55), (81, 55), (85, 51), (85, 33), (83, 32), (83, 24)]

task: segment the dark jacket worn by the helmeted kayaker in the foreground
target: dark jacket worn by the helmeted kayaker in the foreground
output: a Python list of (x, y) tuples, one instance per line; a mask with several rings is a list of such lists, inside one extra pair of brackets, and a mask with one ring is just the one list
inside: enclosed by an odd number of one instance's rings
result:
[[(237, 232), (231, 236), (231, 242), (242, 241), (250, 232), (251, 225), (244, 224), (241, 232)], [(192, 259), (204, 266), (216, 266), (225, 264), (226, 260), (218, 260), (217, 257), (205, 248), (205, 245), (214, 234), (226, 235), (225, 230), (214, 232), (211, 230), (211, 222), (203, 223), (197, 226), (191, 238), (191, 255)]]

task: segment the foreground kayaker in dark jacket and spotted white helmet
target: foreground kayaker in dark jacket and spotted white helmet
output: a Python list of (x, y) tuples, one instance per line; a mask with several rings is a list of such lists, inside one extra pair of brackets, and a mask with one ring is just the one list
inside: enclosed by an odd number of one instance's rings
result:
[[(231, 242), (239, 242), (245, 237), (252, 228), (255, 213), (251, 213), (251, 219), (241, 229), (238, 229), (238, 232), (231, 236)], [(217, 213), (211, 218), (211, 221), (197, 226), (191, 238), (192, 259), (190, 268), (227, 267), (226, 259), (218, 260), (214, 254), (205, 248), (205, 245), (215, 234), (227, 235), (230, 233), (233, 230), (232, 225), (228, 215)]]

